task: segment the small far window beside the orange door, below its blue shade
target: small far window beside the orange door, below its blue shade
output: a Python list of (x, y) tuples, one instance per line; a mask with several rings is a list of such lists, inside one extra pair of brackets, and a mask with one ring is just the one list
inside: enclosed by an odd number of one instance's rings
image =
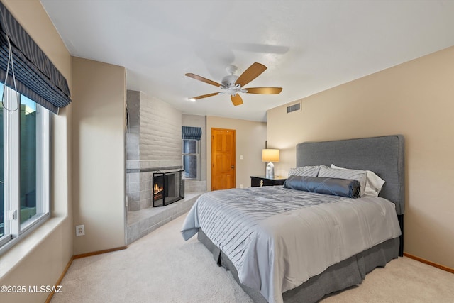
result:
[(184, 179), (200, 180), (200, 140), (182, 139)]

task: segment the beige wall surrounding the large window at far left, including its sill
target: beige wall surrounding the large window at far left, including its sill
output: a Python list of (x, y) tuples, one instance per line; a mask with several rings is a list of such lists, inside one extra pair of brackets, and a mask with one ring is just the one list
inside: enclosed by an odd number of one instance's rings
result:
[[(60, 72), (72, 91), (71, 56), (39, 0), (1, 0)], [(0, 285), (54, 285), (73, 255), (72, 106), (52, 114), (52, 219), (0, 256)], [(0, 302), (44, 302), (48, 294), (0, 294)]]

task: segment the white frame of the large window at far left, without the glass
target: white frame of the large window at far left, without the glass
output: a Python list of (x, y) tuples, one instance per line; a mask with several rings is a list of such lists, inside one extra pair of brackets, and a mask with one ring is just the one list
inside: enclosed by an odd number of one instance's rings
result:
[(0, 254), (50, 217), (50, 111), (36, 104), (36, 214), (21, 224), (21, 103), (15, 97), (20, 94), (6, 86), (4, 90), (4, 236)]

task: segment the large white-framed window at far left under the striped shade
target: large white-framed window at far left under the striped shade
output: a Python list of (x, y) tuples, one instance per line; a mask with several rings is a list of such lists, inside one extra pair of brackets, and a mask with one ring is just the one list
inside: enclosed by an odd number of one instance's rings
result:
[(49, 217), (50, 114), (0, 84), (0, 252)]

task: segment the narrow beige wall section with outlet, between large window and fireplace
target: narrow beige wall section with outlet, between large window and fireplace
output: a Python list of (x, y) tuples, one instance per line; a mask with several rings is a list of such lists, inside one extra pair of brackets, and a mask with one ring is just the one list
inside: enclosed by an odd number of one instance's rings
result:
[(73, 57), (74, 255), (125, 245), (126, 71)]

